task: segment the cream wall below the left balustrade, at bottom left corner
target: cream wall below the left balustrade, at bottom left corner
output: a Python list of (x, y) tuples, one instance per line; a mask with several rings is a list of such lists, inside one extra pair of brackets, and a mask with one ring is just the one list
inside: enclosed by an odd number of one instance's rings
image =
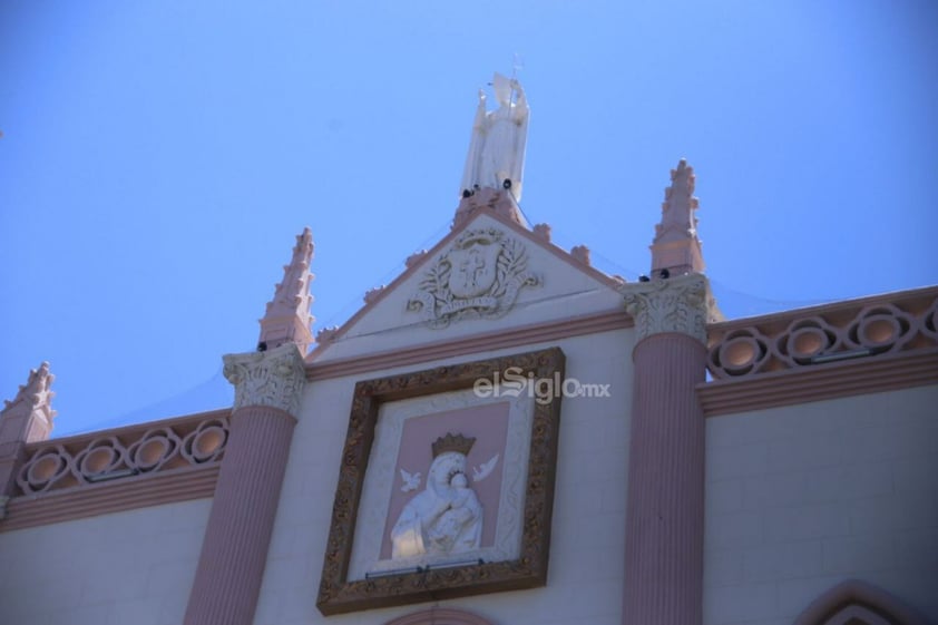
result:
[(179, 625), (209, 499), (0, 534), (0, 623)]

